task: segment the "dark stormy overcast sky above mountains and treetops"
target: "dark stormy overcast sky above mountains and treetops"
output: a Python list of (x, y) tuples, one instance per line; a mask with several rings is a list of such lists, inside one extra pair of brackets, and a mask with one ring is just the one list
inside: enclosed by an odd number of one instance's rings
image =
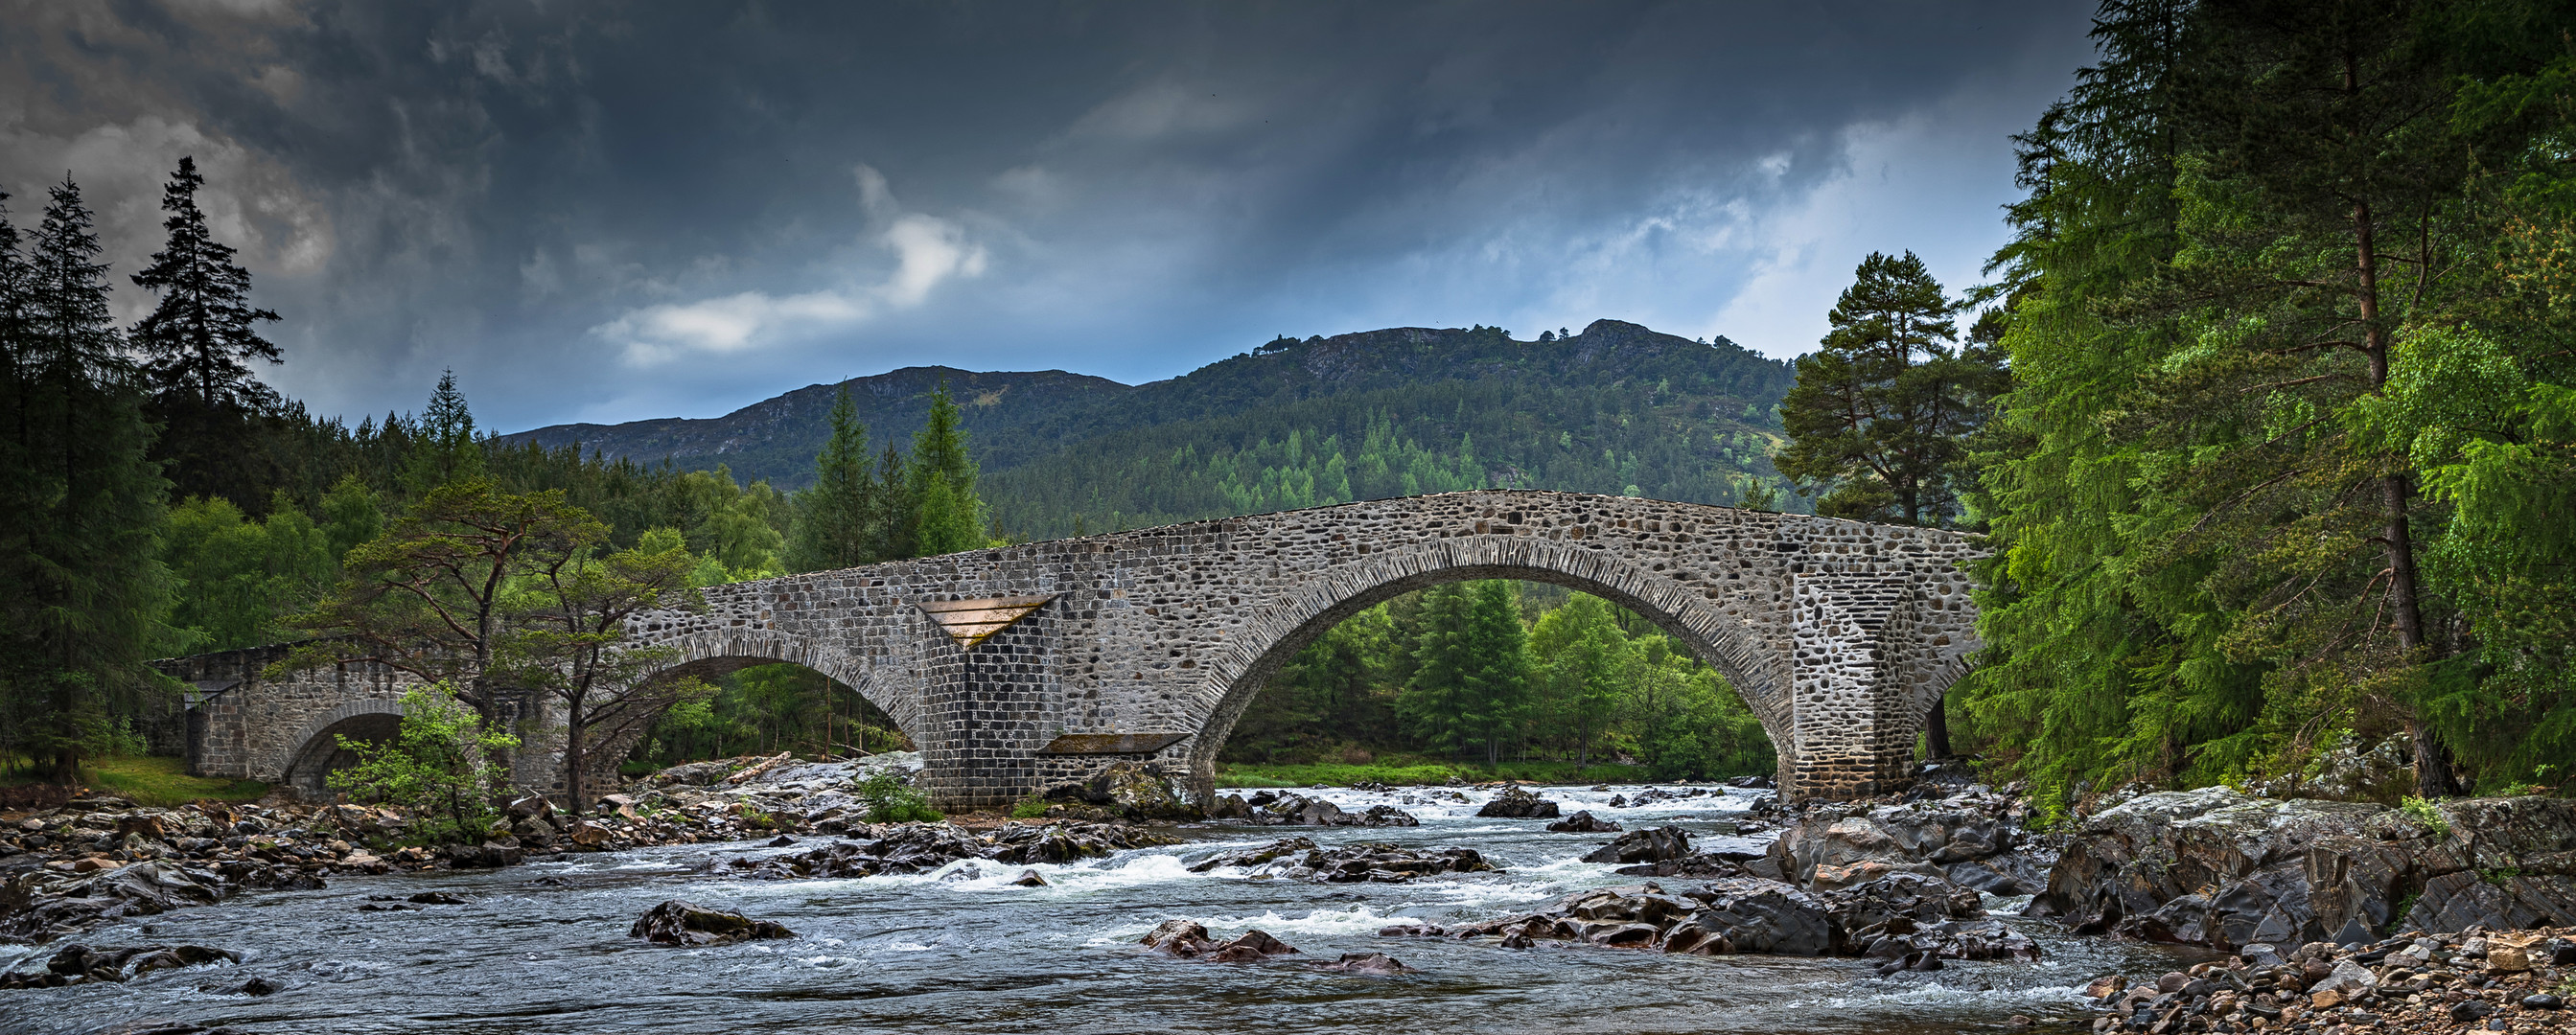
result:
[(1798, 355), (1976, 283), (2089, 3), (8, 5), (0, 188), (118, 312), (180, 154), (317, 412), (711, 417), (948, 363), (1631, 319)]

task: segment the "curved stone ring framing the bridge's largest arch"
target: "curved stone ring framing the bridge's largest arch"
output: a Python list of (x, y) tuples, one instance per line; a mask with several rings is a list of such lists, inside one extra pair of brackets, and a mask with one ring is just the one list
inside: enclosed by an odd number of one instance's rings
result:
[(1785, 659), (1765, 651), (1765, 639), (1708, 597), (1613, 554), (1546, 538), (1453, 538), (1373, 554), (1365, 564), (1340, 564), (1288, 587), (1247, 620), (1200, 685), (1198, 734), (1185, 765), (1203, 798), (1216, 785), (1216, 754), (1262, 685), (1296, 651), (1342, 620), (1404, 592), (1463, 579), (1548, 582), (1628, 608), (1680, 639), (1744, 698), (1777, 744), (1788, 767), (1795, 736)]

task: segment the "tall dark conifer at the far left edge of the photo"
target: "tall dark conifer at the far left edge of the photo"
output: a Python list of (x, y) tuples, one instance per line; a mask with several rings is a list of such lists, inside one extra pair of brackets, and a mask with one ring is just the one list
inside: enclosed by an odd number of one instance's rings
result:
[[(0, 219), (5, 227), (5, 219)], [(0, 239), (0, 705), (15, 749), (70, 783), (118, 703), (160, 680), (170, 641), (160, 561), (167, 481), (149, 461), (142, 378), (108, 314), (98, 234), (64, 178), (31, 247)], [(21, 257), (23, 255), (23, 257)]]

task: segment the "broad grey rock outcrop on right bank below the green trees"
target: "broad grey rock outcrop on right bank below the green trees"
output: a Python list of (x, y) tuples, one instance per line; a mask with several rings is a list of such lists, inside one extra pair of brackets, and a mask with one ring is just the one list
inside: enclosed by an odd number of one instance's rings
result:
[[(2349, 801), (2164, 790), (2076, 829), (2030, 911), (2076, 932), (2244, 947), (2396, 929), (2576, 924), (2576, 801)], [(2398, 906), (2414, 901), (2411, 911)]]

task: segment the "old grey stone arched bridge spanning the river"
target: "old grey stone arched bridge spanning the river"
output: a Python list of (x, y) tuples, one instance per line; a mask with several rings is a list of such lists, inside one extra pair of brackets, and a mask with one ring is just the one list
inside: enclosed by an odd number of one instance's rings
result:
[[(629, 633), (672, 649), (667, 675), (793, 662), (850, 685), (922, 747), (948, 808), (1121, 760), (1208, 796), (1244, 705), (1334, 623), (1437, 582), (1553, 582), (1636, 610), (1726, 675), (1780, 749), (1783, 793), (1842, 798), (1906, 780), (1922, 718), (1976, 649), (1976, 556), (1978, 538), (1932, 528), (1450, 492), (737, 582)], [(325, 731), (384, 723), (366, 716), (399, 695), (381, 672), (337, 672), (307, 677), (337, 693), (263, 705), (276, 695), (252, 682), (216, 695), (229, 711), (191, 716), (193, 770), (317, 780)], [(520, 765), (531, 785), (556, 783), (533, 770)]]

